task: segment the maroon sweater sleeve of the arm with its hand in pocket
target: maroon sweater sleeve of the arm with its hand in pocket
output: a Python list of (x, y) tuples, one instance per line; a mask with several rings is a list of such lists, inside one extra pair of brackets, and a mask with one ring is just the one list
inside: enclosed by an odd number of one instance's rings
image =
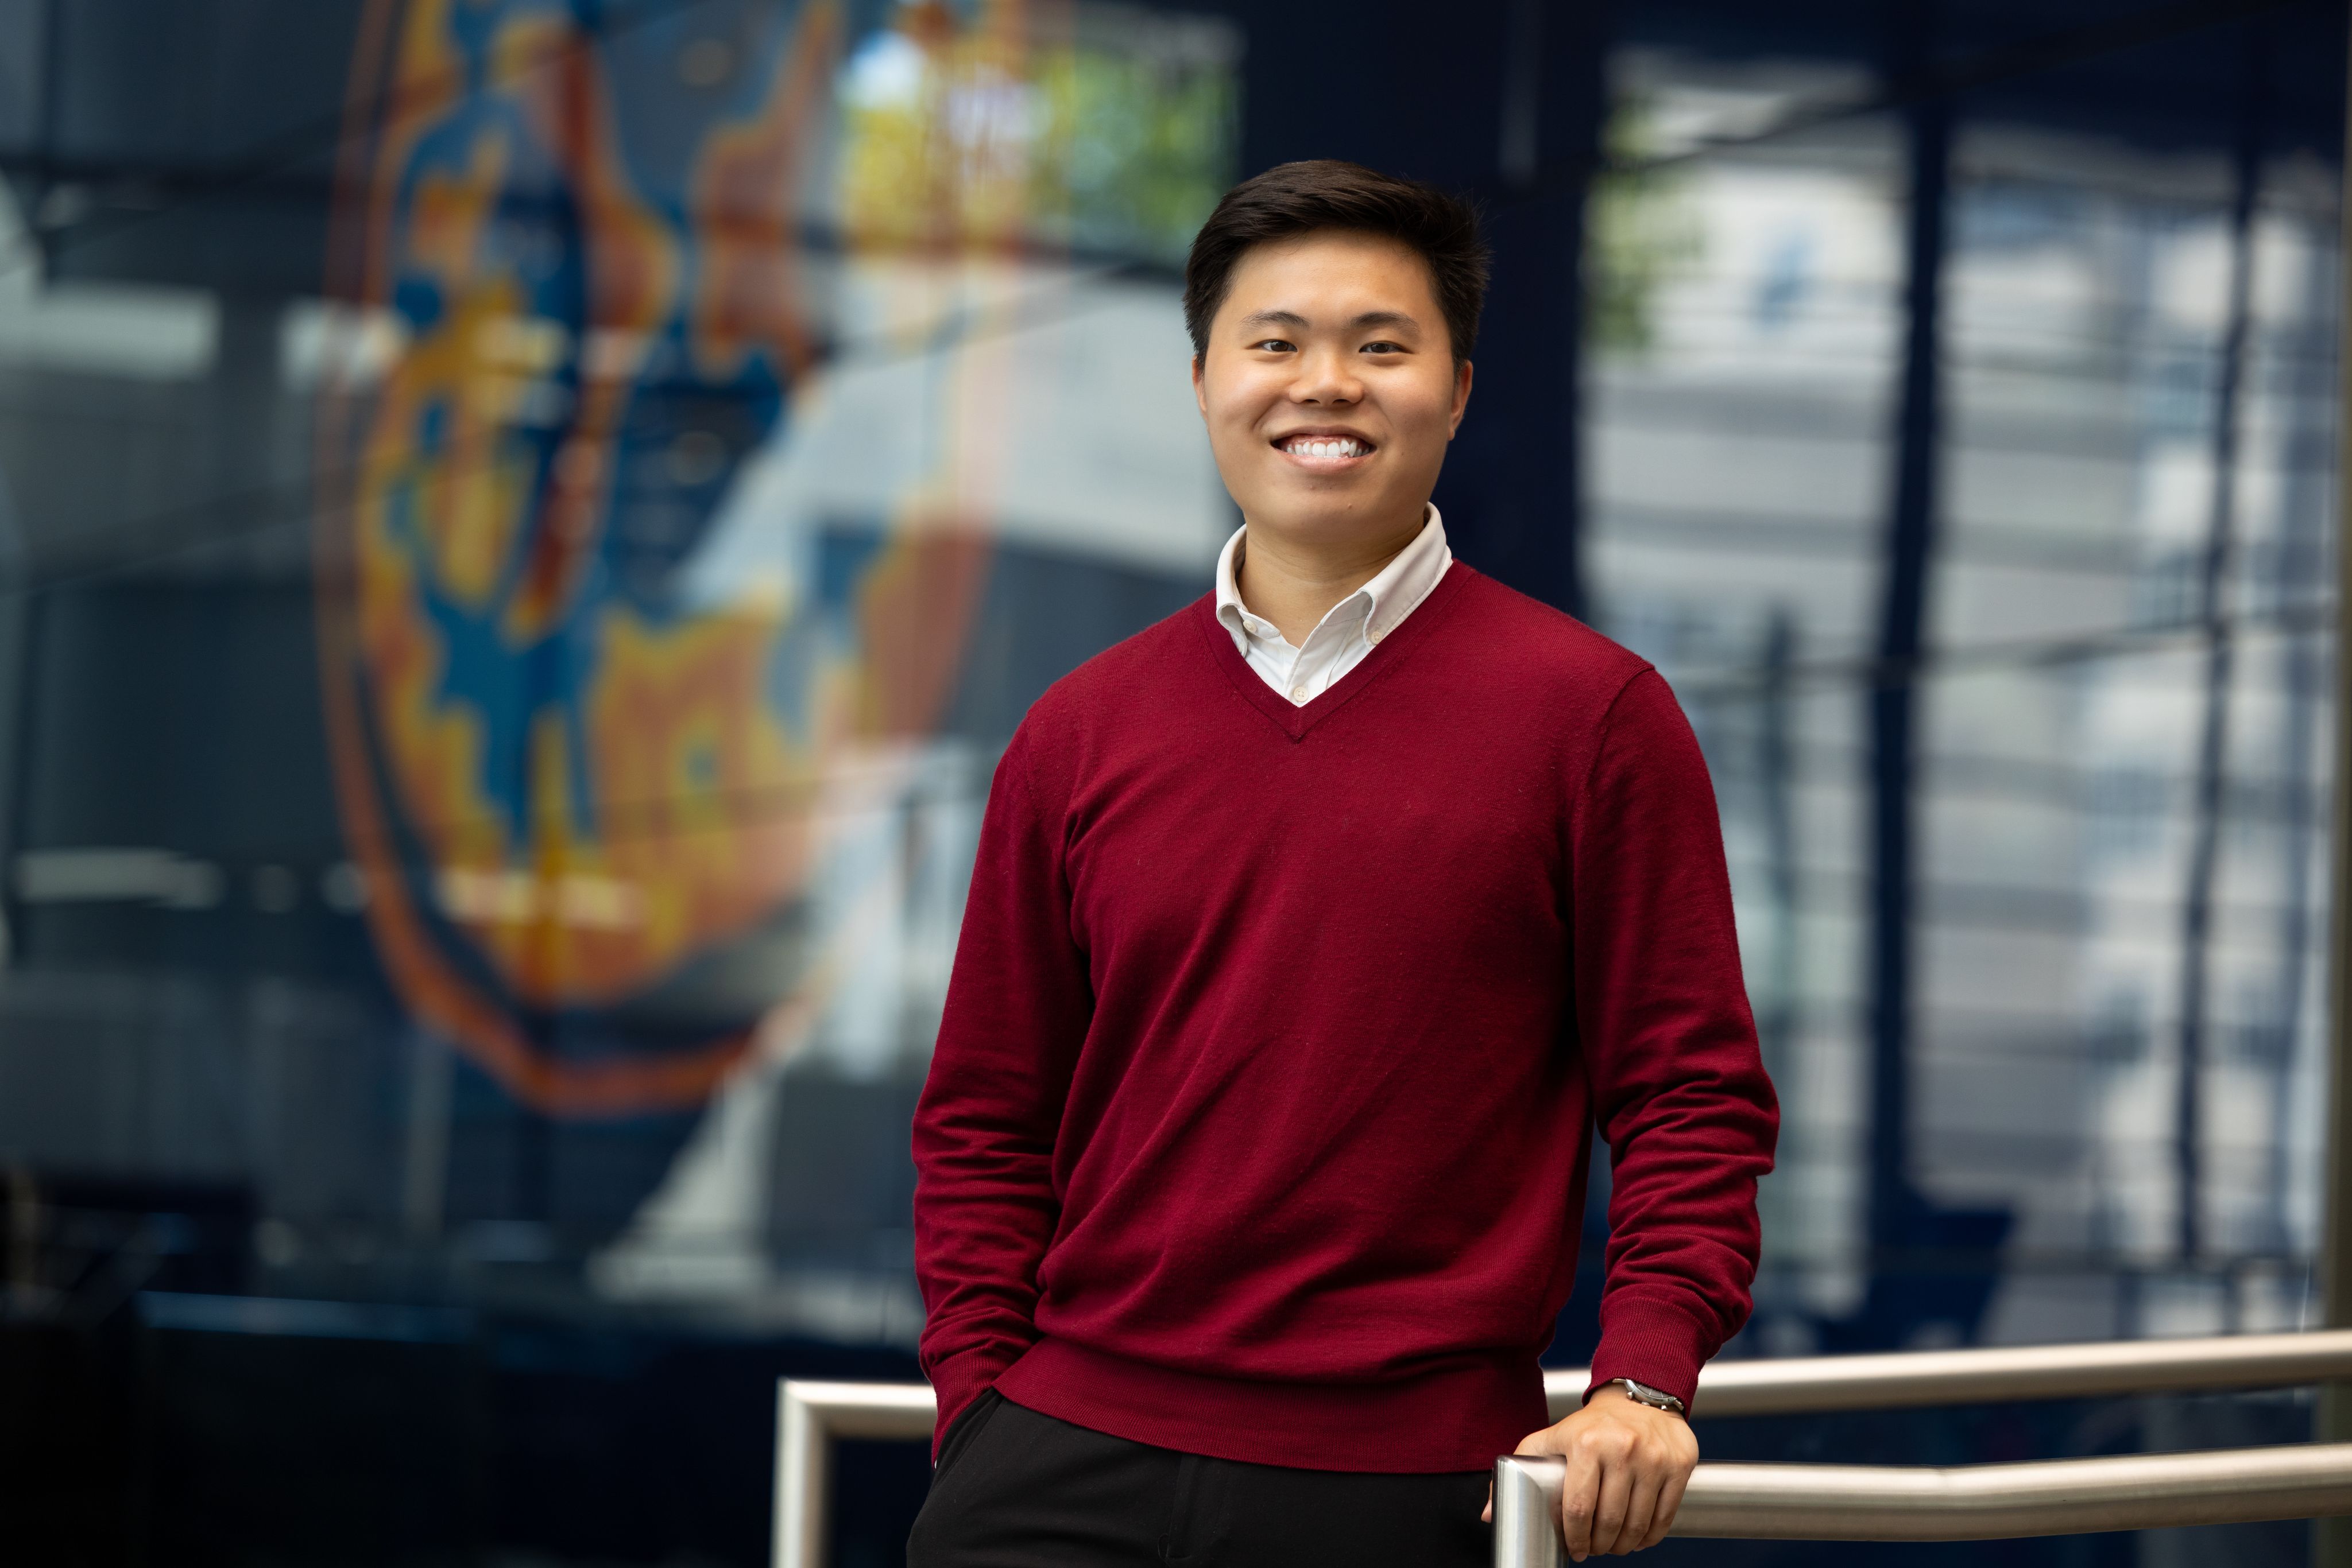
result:
[(1061, 820), (1040, 811), (1030, 745), (1023, 724), (997, 762), (915, 1107), (920, 1356), (941, 1436), (1037, 1340), (1037, 1262), (1061, 1215), (1054, 1138), (1094, 1013)]

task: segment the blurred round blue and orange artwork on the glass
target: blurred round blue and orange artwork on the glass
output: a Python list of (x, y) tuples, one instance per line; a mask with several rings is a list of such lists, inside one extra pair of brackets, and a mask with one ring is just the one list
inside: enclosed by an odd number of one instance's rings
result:
[(985, 531), (917, 496), (844, 614), (680, 588), (826, 360), (847, 31), (833, 0), (362, 26), (332, 294), (400, 348), (320, 407), (339, 804), (402, 1004), (548, 1112), (729, 1072), (809, 961), (826, 780), (938, 722), (985, 583)]

